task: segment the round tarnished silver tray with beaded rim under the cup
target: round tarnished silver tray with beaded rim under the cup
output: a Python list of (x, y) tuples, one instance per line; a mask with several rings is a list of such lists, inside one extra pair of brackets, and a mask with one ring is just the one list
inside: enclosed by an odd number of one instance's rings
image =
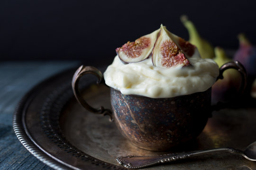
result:
[[(75, 68), (48, 78), (19, 102), (13, 127), (30, 153), (56, 170), (123, 170), (116, 161), (118, 156), (165, 154), (137, 148), (120, 135), (108, 117), (84, 110), (73, 96), (74, 72)], [(110, 108), (109, 88), (94, 82), (91, 76), (82, 78), (84, 97), (95, 107)], [(170, 152), (225, 146), (243, 150), (256, 141), (255, 122), (255, 107), (215, 111), (195, 141)], [(256, 162), (232, 153), (218, 153), (146, 169), (255, 170)]]

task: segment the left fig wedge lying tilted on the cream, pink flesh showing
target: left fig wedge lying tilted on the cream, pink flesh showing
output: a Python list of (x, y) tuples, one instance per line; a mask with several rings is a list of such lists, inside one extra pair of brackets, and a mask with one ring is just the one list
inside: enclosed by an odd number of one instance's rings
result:
[(135, 42), (127, 42), (122, 47), (116, 49), (119, 59), (124, 63), (139, 62), (147, 59), (153, 50), (155, 41), (160, 29), (151, 34), (144, 35)]

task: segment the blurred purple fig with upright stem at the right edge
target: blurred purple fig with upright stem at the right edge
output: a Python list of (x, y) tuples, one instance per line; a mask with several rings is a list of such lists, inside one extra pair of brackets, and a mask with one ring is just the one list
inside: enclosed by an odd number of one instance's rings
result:
[(250, 95), (252, 85), (256, 79), (256, 47), (253, 46), (245, 34), (238, 34), (239, 48), (234, 55), (234, 60), (240, 61), (247, 71), (246, 94)]

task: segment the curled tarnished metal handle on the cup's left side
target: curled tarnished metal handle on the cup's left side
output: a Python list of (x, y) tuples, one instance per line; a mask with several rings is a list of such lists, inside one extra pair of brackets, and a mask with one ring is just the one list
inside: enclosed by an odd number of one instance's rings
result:
[(79, 80), (80, 78), (85, 75), (85, 74), (92, 74), (98, 77), (98, 81), (97, 84), (100, 84), (102, 79), (103, 79), (103, 75), (101, 73), (101, 71), (97, 68), (94, 68), (92, 66), (80, 66), (76, 72), (73, 75), (73, 79), (72, 79), (72, 89), (73, 89), (73, 93), (75, 95), (75, 98), (77, 99), (77, 101), (86, 109), (91, 111), (92, 113), (96, 113), (96, 114), (102, 114), (102, 115), (109, 115), (110, 116), (110, 121), (113, 121), (113, 116), (112, 116), (112, 112), (109, 109), (105, 109), (103, 106), (101, 106), (98, 109), (95, 109), (93, 107), (91, 107), (82, 97), (82, 94), (79, 91), (78, 88), (78, 84), (79, 84)]

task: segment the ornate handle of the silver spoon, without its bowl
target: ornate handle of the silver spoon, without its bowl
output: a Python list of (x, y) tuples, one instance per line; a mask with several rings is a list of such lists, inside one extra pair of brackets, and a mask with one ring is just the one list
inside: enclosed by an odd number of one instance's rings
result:
[(151, 165), (165, 163), (170, 161), (177, 161), (185, 158), (189, 158), (192, 156), (199, 156), (209, 153), (217, 153), (217, 152), (231, 152), (231, 153), (240, 153), (240, 151), (235, 150), (233, 148), (216, 148), (202, 151), (193, 151), (193, 152), (183, 152), (183, 153), (170, 153), (165, 155), (157, 155), (157, 156), (120, 156), (117, 158), (119, 164), (123, 165), (126, 168), (130, 169), (139, 169), (148, 167)]

